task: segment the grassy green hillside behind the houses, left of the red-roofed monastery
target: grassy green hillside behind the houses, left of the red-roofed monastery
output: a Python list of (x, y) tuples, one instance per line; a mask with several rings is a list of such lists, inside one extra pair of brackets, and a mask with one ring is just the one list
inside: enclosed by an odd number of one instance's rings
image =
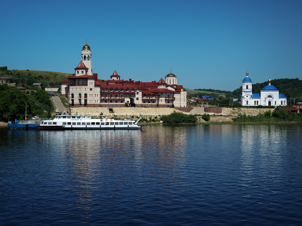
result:
[(61, 85), (60, 81), (67, 79), (72, 74), (52, 72), (52, 71), (33, 71), (33, 70), (7, 70), (6, 66), (0, 67), (0, 77), (11, 77), (12, 82), (17, 86), (31, 87), (33, 83), (42, 83), (42, 89), (50, 86)]

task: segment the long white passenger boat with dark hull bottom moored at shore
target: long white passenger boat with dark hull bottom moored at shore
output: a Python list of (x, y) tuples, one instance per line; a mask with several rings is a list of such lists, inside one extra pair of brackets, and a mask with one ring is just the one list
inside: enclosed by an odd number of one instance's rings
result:
[(141, 129), (134, 119), (115, 120), (113, 115), (56, 115), (37, 125), (41, 130)]

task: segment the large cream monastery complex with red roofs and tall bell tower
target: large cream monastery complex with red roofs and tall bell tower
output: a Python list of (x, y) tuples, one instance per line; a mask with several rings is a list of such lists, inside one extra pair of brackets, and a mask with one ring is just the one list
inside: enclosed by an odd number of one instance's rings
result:
[(98, 74), (92, 72), (87, 41), (75, 73), (61, 85), (62, 96), (73, 107), (187, 107), (187, 91), (177, 85), (172, 70), (158, 82), (124, 81), (116, 71), (110, 80), (98, 79)]

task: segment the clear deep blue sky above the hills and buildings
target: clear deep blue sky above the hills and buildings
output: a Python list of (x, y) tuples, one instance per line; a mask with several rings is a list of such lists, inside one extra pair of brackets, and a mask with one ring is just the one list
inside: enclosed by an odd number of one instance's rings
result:
[[(86, 43), (93, 72), (186, 89), (233, 91), (302, 79), (302, 1), (4, 1), (0, 66), (74, 73)], [(6, 9), (6, 10), (3, 10)], [(273, 85), (273, 84), (272, 84)]]

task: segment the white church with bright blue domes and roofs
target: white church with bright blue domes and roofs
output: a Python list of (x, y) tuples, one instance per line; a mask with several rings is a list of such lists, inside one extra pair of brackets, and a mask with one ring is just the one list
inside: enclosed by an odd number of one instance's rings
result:
[(270, 78), (269, 85), (261, 89), (260, 93), (252, 93), (252, 80), (249, 78), (249, 73), (246, 72), (246, 77), (242, 81), (242, 106), (286, 106), (286, 104), (286, 96), (271, 85)]

